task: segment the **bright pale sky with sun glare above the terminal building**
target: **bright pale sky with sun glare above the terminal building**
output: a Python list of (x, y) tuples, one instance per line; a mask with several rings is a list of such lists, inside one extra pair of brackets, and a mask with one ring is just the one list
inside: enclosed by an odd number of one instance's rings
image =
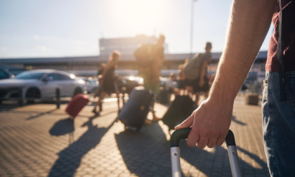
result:
[[(231, 4), (232, 0), (0, 0), (0, 58), (99, 55), (99, 39), (138, 34), (164, 34), (169, 53), (202, 52), (206, 41), (211, 41), (212, 52), (222, 52)], [(261, 51), (267, 51), (271, 31), (272, 27)]]

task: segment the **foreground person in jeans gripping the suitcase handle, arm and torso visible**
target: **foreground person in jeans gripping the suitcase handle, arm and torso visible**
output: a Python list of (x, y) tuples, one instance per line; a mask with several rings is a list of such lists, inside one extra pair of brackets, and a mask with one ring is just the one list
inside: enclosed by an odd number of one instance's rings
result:
[(235, 97), (273, 21), (261, 103), (263, 144), (270, 176), (295, 176), (294, 17), (294, 0), (233, 1), (225, 50), (209, 97), (176, 126), (176, 129), (192, 126), (189, 146), (223, 144)]

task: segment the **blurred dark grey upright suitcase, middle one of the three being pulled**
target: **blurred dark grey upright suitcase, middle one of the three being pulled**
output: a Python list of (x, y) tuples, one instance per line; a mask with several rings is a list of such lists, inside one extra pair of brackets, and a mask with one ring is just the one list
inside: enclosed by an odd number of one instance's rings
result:
[(118, 119), (125, 125), (125, 129), (139, 131), (154, 101), (155, 94), (152, 91), (144, 89), (143, 86), (134, 88), (118, 116)]

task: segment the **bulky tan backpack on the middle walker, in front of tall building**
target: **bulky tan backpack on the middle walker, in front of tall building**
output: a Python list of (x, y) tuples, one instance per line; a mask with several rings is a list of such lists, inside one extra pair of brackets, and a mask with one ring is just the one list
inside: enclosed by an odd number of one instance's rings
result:
[(136, 58), (136, 65), (138, 67), (147, 67), (152, 63), (152, 44), (140, 44), (136, 51), (134, 52), (134, 57)]

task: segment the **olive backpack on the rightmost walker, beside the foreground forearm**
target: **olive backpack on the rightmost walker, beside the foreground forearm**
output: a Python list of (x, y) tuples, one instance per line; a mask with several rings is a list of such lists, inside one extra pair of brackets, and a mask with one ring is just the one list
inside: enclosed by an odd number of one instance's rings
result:
[(210, 57), (211, 53), (199, 53), (183, 65), (183, 74), (187, 79), (199, 79), (204, 60)]

